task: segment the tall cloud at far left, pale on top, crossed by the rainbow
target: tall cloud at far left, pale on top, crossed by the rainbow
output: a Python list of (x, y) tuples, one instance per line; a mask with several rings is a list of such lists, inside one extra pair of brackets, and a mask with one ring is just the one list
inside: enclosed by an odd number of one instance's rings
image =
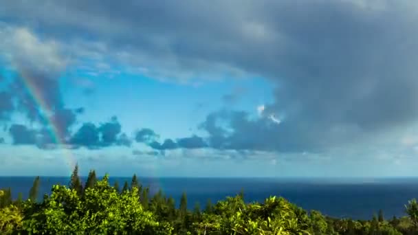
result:
[[(60, 142), (66, 142), (70, 128), (76, 123), (77, 115), (83, 109), (67, 109), (61, 95), (59, 79), (67, 65), (67, 58), (61, 52), (61, 45), (52, 39), (42, 39), (26, 27), (11, 27), (1, 24), (0, 56), (10, 64), (11, 82), (5, 89), (13, 93), (0, 93), (0, 118), (14, 111), (25, 113), (31, 122), (43, 125), (41, 142), (52, 142), (44, 135), (47, 129), (58, 131)], [(13, 101), (16, 102), (14, 106)]]

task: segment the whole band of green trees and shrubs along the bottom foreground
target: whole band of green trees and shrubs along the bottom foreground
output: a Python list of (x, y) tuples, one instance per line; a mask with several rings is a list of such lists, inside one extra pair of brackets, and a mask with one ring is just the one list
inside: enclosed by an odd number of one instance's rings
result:
[(415, 199), (406, 205), (408, 216), (391, 220), (382, 211), (371, 221), (333, 219), (278, 197), (245, 203), (242, 193), (189, 211), (186, 194), (176, 208), (162, 191), (148, 198), (135, 175), (122, 190), (108, 179), (98, 181), (92, 170), (83, 186), (76, 167), (69, 186), (53, 186), (42, 201), (36, 201), (39, 177), (27, 200), (0, 190), (0, 234), (418, 234)]

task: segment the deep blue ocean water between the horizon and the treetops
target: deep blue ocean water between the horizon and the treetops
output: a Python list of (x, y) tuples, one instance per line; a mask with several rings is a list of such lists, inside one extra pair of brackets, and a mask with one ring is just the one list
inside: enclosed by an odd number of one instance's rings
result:
[[(28, 196), (34, 177), (0, 177), (0, 188), (12, 188), (13, 197), (19, 192)], [(82, 177), (83, 182), (85, 178)], [(111, 177), (110, 183), (131, 178)], [(56, 183), (67, 185), (68, 177), (41, 177), (40, 198)], [(188, 208), (195, 203), (201, 208), (234, 196), (243, 190), (245, 201), (263, 201), (270, 195), (282, 196), (305, 210), (320, 210), (334, 217), (371, 219), (382, 209), (386, 218), (404, 215), (404, 205), (418, 197), (418, 178), (397, 179), (273, 179), (273, 178), (140, 178), (150, 186), (151, 194), (160, 188), (179, 201), (182, 192), (188, 197)]]

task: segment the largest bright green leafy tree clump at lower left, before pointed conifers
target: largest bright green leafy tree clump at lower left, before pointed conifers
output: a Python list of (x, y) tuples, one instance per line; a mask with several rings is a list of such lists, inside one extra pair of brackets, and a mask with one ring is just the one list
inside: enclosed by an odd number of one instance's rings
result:
[(75, 189), (54, 186), (43, 203), (25, 208), (23, 229), (45, 234), (170, 234), (172, 227), (144, 211), (138, 197), (137, 188), (118, 194), (107, 176), (83, 197)]

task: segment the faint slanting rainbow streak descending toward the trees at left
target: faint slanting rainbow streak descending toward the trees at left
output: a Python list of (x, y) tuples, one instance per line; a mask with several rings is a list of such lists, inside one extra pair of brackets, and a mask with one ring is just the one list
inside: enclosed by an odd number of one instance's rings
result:
[[(52, 107), (49, 107), (47, 102), (43, 97), (42, 91), (36, 86), (36, 78), (32, 78), (30, 73), (24, 71), (24, 69), (19, 70), (19, 77), (25, 86), (25, 90), (30, 95), (30, 98), (35, 102), (36, 105), (41, 109), (41, 111), (47, 112), (52, 111)], [(50, 128), (47, 128), (50, 137), (54, 144), (64, 151), (65, 163), (69, 168), (69, 175), (72, 174), (72, 170), (76, 166), (76, 158), (72, 154), (72, 151), (67, 148), (67, 143), (65, 143), (65, 133), (62, 133), (59, 128), (57, 128), (56, 122), (50, 117), (50, 115), (43, 115), (47, 125)]]

